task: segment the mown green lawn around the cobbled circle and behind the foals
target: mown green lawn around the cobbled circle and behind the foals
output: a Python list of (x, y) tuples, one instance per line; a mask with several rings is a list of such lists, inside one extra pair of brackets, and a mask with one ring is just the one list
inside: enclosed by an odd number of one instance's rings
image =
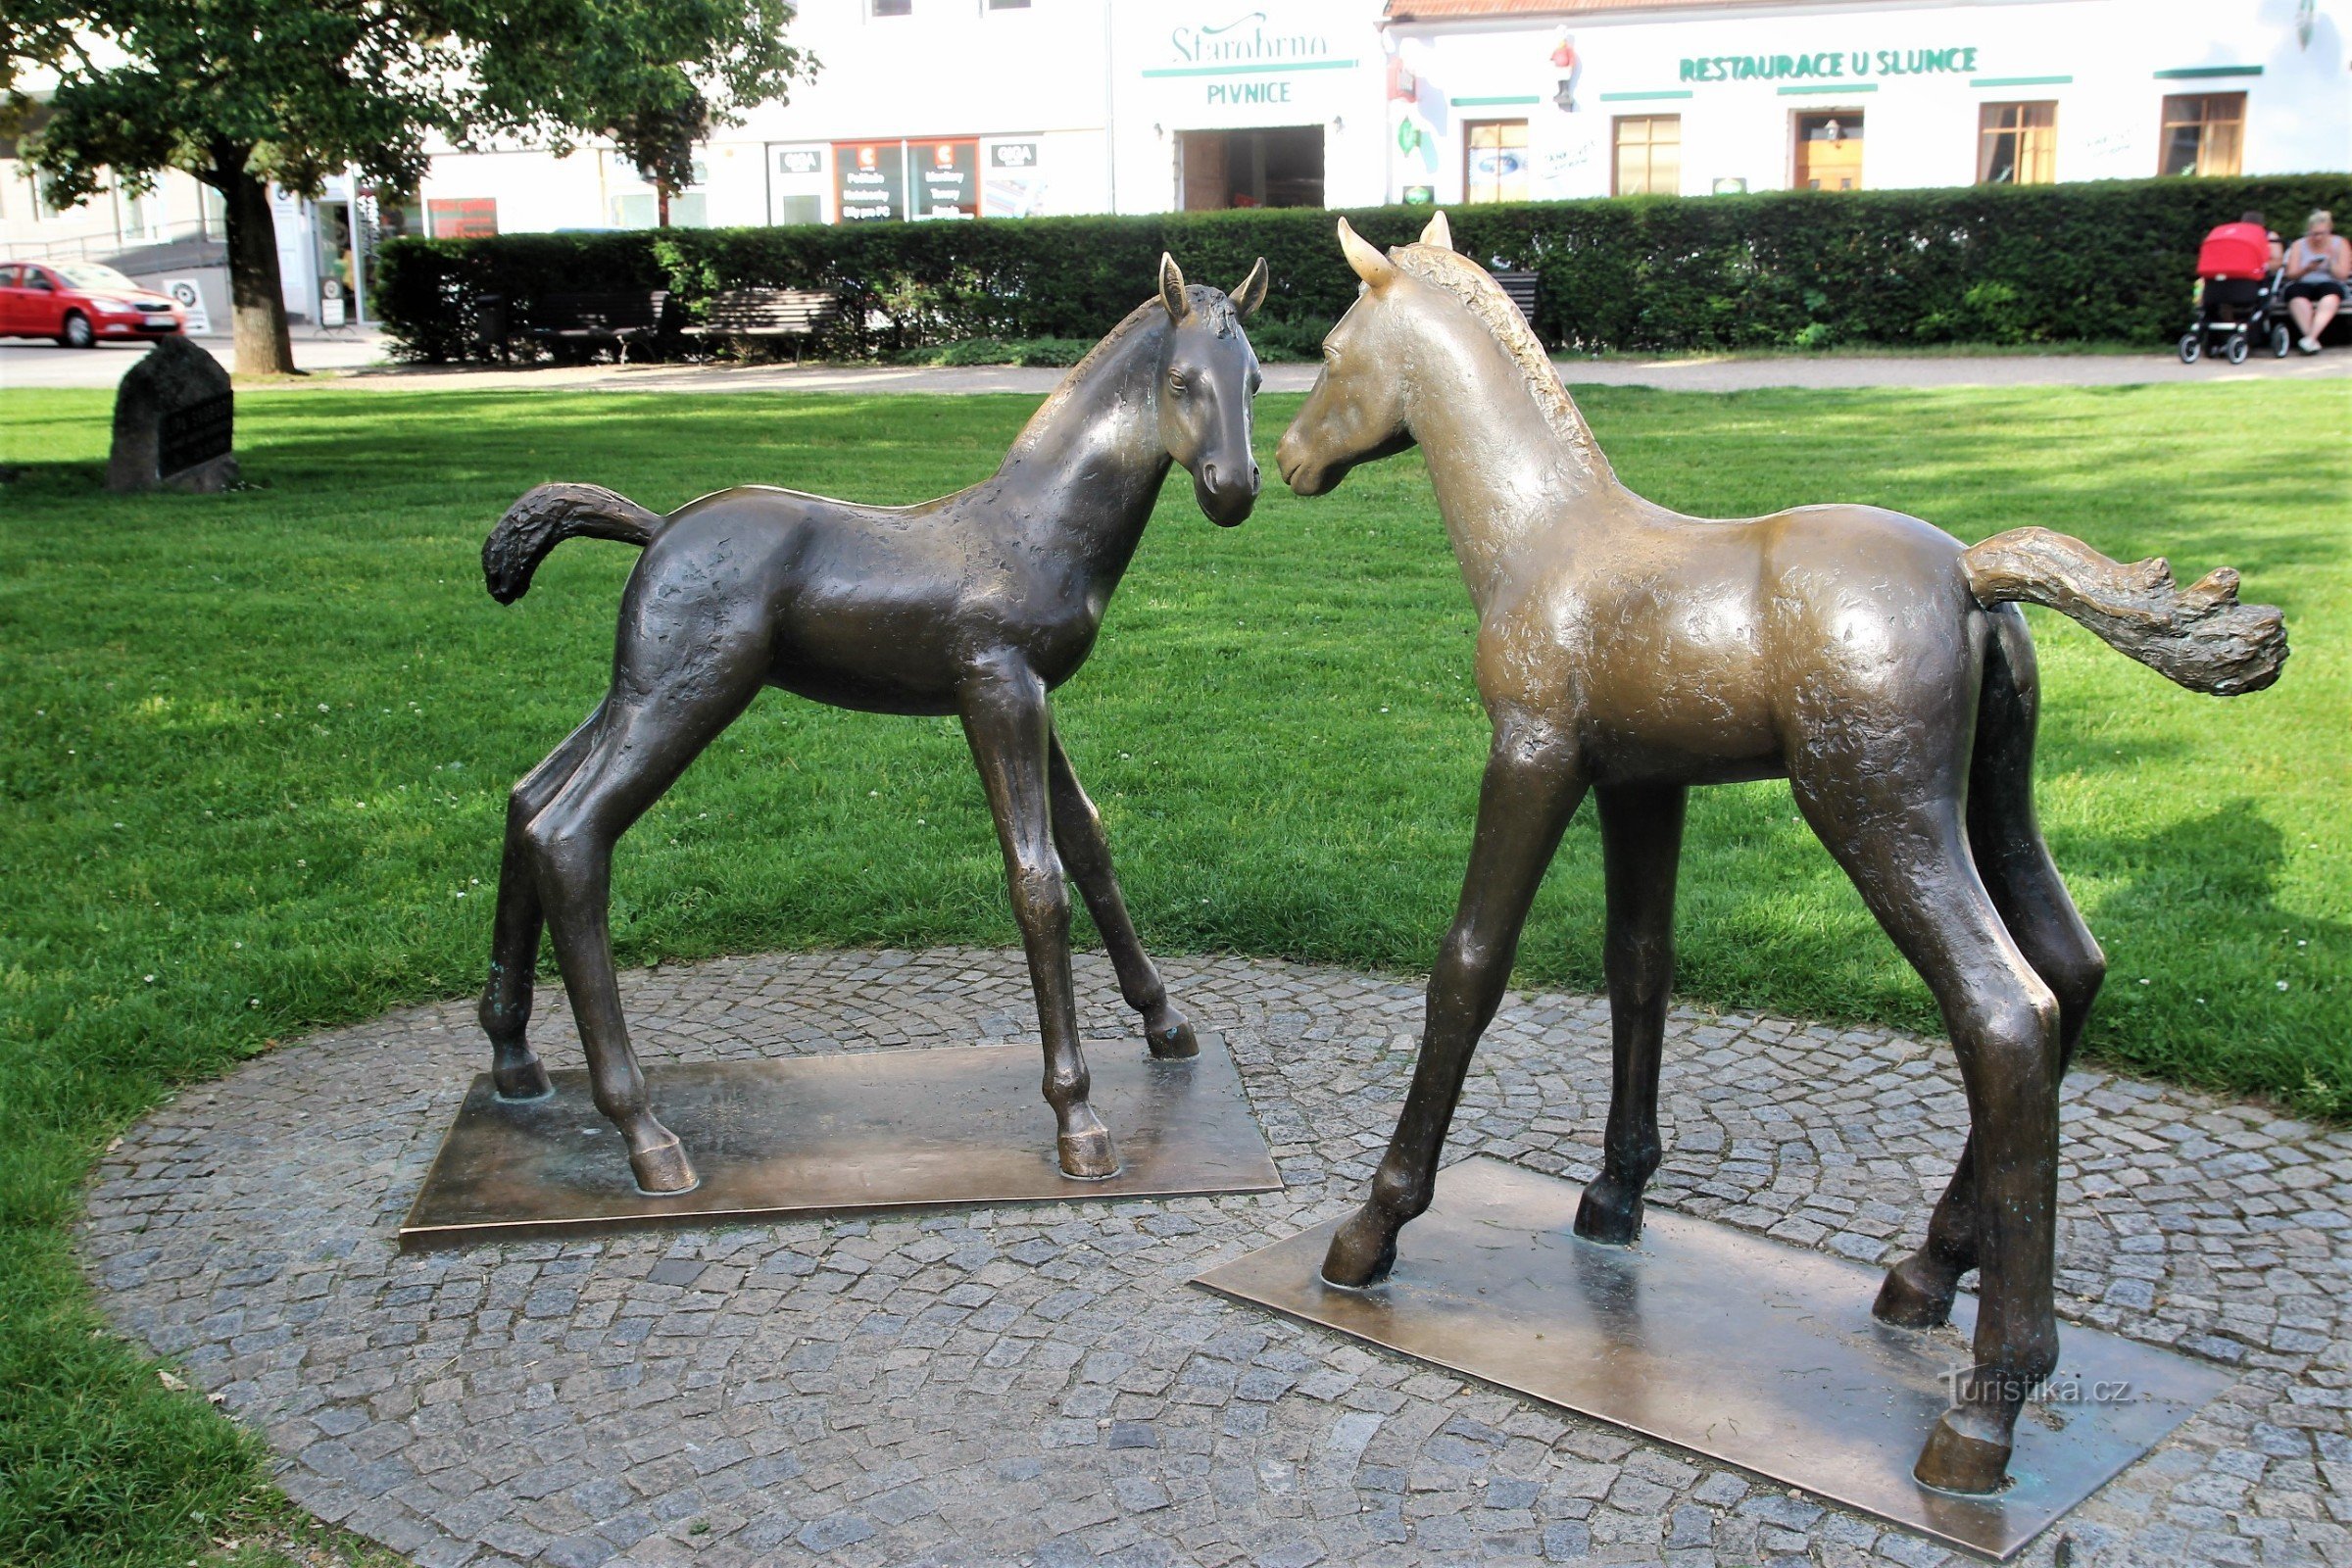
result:
[[(2039, 522), (2286, 607), (2260, 696), (2190, 696), (2034, 611), (2042, 820), (2114, 964), (2091, 1051), (2352, 1112), (2352, 400), (2319, 383), (1585, 395), (1693, 512), (1872, 501)], [(783, 482), (915, 501), (1033, 400), (254, 393), (252, 489), (113, 501), (101, 393), (0, 393), (0, 1542), (186, 1561), (268, 1509), (256, 1450), (96, 1333), (71, 1234), (106, 1138), (275, 1039), (477, 985), (508, 783), (604, 684), (635, 552), (574, 543), (499, 609), (477, 550), (539, 480), (656, 508)], [(1270, 447), (1294, 397), (1261, 402)], [(1468, 599), (1418, 458), (1221, 531), (1176, 484), (1058, 703), (1157, 950), (1418, 971), (1484, 755)], [(1599, 985), (1581, 820), (1522, 950)], [(950, 722), (767, 696), (626, 839), (623, 961), (1014, 943)], [(1080, 917), (1082, 919), (1082, 917)], [(1091, 931), (1087, 933), (1091, 940)], [(1783, 785), (1689, 832), (1682, 994), (1933, 1027)], [(550, 1001), (553, 1004), (553, 1001)], [(332, 1086), (322, 1086), (332, 1093)], [(7, 1556), (7, 1552), (0, 1552)]]

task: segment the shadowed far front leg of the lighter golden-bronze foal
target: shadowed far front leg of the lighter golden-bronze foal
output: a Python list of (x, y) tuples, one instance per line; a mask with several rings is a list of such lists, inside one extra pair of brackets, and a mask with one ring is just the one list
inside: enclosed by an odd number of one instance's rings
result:
[(1576, 1206), (1576, 1234), (1630, 1246), (1642, 1234), (1642, 1187), (1656, 1175), (1658, 1056), (1675, 985), (1675, 872), (1682, 863), (1686, 785), (1604, 785), (1602, 870), (1609, 886), (1609, 1032), (1613, 1067), (1602, 1173)]

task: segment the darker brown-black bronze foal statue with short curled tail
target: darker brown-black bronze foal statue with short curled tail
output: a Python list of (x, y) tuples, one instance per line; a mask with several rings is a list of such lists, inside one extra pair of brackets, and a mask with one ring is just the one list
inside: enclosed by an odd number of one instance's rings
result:
[[(1110, 870), (1094, 802), (1054, 733), (1047, 693), (1094, 649), (1169, 465), (1232, 527), (1258, 498), (1249, 449), (1258, 360), (1242, 317), (1265, 261), (1230, 296), (1188, 289), (1167, 256), (1160, 294), (1120, 322), (1044, 400), (995, 477), (922, 505), (858, 505), (746, 484), (659, 517), (593, 484), (541, 484), (482, 545), (489, 592), (513, 604), (564, 538), (616, 538), (644, 559), (621, 597), (612, 691), (515, 785), (482, 992), (506, 1098), (548, 1093), (524, 1041), (541, 922), (572, 994), (595, 1105), (628, 1140), (644, 1192), (687, 1192), (694, 1166), (654, 1119), (612, 971), (612, 846), (762, 686), (835, 708), (957, 715), (997, 818), (1014, 919), (1044, 1034), (1044, 1098), (1061, 1168), (1117, 1171), (1087, 1105), (1070, 994), (1077, 879), (1152, 1056), (1192, 1056), (1192, 1027)], [(1058, 853), (1056, 853), (1058, 849)]]

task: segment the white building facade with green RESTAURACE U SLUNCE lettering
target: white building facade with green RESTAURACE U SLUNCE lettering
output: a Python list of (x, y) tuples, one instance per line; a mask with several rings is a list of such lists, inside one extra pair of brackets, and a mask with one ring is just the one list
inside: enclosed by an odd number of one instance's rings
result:
[[(2328, 0), (1395, 0), (1397, 200), (2352, 167)], [(2300, 219), (2300, 214), (2293, 214)]]

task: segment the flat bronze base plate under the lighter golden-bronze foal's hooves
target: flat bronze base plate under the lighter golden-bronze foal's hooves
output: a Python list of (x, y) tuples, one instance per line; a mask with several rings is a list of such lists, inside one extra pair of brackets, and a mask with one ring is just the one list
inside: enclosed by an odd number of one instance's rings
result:
[[(1919, 1486), (1910, 1467), (1969, 1361), (1955, 1328), (1870, 1316), (1879, 1269), (1729, 1225), (1651, 1211), (1632, 1248), (1569, 1229), (1578, 1187), (1498, 1159), (1439, 1173), (1369, 1291), (1322, 1281), (1338, 1220), (1195, 1284), (1797, 1486), (1936, 1540), (2016, 1556), (2154, 1448), (2232, 1378), (2093, 1328), (2063, 1328), (2053, 1399), (2018, 1420), (1992, 1497)], [(1957, 1331), (1957, 1333), (1955, 1333)]]

